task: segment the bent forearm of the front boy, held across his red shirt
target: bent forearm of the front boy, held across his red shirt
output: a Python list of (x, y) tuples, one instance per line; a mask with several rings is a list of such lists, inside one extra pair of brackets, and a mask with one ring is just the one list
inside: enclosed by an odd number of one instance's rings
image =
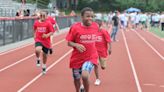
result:
[(76, 48), (80, 53), (86, 51), (86, 48), (82, 44), (75, 43), (72, 41), (68, 41), (68, 46)]

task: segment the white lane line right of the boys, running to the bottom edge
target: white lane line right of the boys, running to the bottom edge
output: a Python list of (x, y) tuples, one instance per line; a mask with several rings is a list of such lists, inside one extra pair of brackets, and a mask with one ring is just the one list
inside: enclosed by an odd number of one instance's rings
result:
[(142, 92), (124, 32), (121, 30), (138, 92)]

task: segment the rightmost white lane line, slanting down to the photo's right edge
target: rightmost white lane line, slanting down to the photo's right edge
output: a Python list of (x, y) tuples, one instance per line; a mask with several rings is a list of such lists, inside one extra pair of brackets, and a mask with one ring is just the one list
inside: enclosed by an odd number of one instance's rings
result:
[(144, 37), (136, 31), (133, 32), (135, 32), (162, 60), (164, 60), (164, 57), (148, 41), (146, 41)]

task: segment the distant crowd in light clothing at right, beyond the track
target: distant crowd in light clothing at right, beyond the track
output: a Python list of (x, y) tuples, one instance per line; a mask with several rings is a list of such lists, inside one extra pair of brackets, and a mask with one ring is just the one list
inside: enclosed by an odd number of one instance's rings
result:
[[(108, 15), (109, 21), (114, 16), (114, 13)], [(118, 14), (121, 28), (125, 31), (135, 30), (149, 30), (150, 27), (157, 27), (163, 31), (164, 12), (149, 13), (149, 12), (132, 12), (126, 11)]]

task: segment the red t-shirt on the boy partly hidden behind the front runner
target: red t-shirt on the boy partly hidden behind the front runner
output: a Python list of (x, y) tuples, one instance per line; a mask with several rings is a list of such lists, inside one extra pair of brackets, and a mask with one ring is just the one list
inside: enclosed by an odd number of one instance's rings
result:
[(108, 44), (110, 42), (110, 34), (106, 30), (101, 29), (97, 32), (96, 48), (100, 57), (107, 57)]

